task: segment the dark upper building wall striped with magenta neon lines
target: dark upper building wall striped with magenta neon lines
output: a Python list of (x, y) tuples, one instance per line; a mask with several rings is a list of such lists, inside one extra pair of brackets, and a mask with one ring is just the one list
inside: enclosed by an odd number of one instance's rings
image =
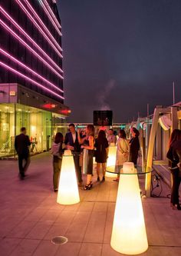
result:
[(0, 83), (18, 83), (64, 103), (61, 20), (46, 1), (1, 2)]

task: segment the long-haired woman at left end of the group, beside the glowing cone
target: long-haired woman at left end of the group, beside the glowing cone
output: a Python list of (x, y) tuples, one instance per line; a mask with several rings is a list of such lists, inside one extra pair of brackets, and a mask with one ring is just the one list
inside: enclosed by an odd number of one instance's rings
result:
[(58, 132), (54, 137), (54, 142), (51, 147), (51, 155), (53, 155), (53, 185), (54, 192), (58, 191), (58, 180), (61, 172), (61, 161), (62, 161), (62, 144), (64, 137), (61, 132)]

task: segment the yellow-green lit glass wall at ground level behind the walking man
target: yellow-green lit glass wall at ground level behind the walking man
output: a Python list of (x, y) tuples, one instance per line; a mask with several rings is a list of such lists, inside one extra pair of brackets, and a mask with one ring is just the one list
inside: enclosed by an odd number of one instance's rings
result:
[(15, 157), (15, 136), (21, 127), (27, 129), (31, 141), (31, 155), (48, 151), (56, 132), (67, 131), (59, 127), (64, 117), (51, 111), (33, 108), (21, 104), (0, 105), (0, 159)]

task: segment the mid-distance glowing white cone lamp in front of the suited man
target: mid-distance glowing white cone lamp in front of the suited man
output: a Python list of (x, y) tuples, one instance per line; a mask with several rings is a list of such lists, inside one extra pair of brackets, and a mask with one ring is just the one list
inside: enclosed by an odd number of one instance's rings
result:
[(65, 150), (61, 164), (58, 185), (58, 204), (77, 204), (80, 201), (74, 158), (70, 150)]

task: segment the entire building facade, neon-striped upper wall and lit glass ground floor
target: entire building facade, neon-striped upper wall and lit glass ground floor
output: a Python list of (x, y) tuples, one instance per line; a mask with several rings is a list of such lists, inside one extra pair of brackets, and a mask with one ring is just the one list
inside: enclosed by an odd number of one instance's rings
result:
[(31, 152), (48, 150), (70, 112), (64, 105), (61, 19), (53, 0), (0, 5), (0, 157), (15, 155), (25, 126)]

